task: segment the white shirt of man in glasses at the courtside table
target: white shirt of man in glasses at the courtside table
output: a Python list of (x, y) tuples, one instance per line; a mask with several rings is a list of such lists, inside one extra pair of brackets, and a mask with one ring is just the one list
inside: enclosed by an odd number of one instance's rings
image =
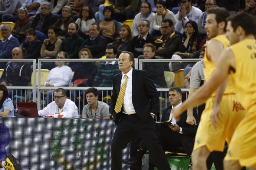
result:
[[(58, 114), (59, 106), (56, 105), (55, 101), (49, 103), (43, 110), (38, 111), (39, 116)], [(66, 99), (66, 102), (62, 109), (59, 109), (59, 114), (63, 115), (62, 118), (79, 118), (78, 108), (76, 104), (70, 99)]]

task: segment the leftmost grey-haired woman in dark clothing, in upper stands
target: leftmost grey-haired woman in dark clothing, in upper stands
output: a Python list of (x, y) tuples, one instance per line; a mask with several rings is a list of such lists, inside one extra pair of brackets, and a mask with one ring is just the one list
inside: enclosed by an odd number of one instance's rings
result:
[(20, 44), (26, 39), (25, 31), (30, 28), (31, 22), (27, 17), (29, 11), (25, 7), (20, 7), (18, 10), (19, 19), (15, 22), (15, 25), (12, 30), (14, 37), (18, 38)]

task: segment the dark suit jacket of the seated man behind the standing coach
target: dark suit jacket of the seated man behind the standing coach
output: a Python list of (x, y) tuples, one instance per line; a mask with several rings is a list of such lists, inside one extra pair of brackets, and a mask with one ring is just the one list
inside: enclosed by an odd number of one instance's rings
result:
[[(172, 106), (164, 109), (161, 122), (166, 122), (169, 119), (171, 107)], [(196, 110), (193, 110), (193, 116), (196, 118), (197, 125), (198, 125)], [(197, 126), (187, 124), (186, 120), (187, 120), (187, 110), (183, 112), (182, 115), (180, 115), (180, 121), (177, 122), (177, 125), (182, 128), (182, 132), (183, 132), (183, 134), (179, 133), (181, 145), (184, 151), (186, 152), (186, 154), (191, 155), (194, 147), (194, 138), (196, 136)]]

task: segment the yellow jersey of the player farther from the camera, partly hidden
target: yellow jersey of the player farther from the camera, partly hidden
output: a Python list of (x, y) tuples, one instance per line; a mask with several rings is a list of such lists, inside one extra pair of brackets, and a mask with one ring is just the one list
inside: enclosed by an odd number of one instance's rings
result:
[[(227, 37), (225, 35), (218, 35), (217, 37), (214, 37), (211, 40), (220, 41), (223, 44), (224, 49), (229, 47), (229, 40), (227, 39)], [(207, 58), (207, 46), (206, 46), (206, 50), (205, 50), (205, 54), (204, 54), (204, 77), (205, 77), (206, 81), (210, 78), (215, 67), (216, 66), (215, 66), (214, 62), (210, 61), (209, 58)], [(234, 86), (232, 85), (232, 82), (231, 82), (230, 76), (229, 76), (229, 81), (227, 83), (227, 87), (224, 91), (224, 94), (233, 94), (233, 93), (236, 93), (236, 92), (234, 90)], [(215, 96), (215, 92), (211, 96)]]

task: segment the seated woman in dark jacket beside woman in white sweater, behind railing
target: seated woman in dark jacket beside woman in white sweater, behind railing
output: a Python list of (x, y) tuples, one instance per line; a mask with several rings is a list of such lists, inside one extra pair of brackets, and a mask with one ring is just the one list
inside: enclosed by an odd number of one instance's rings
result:
[[(82, 48), (79, 51), (79, 58), (81, 59), (90, 59), (92, 58), (92, 53), (88, 48)], [(78, 62), (77, 64), (71, 67), (72, 71), (74, 71), (72, 82), (70, 83), (70, 87), (91, 87), (94, 77), (96, 75), (97, 66), (94, 62)], [(75, 101), (77, 96), (83, 96), (84, 91), (79, 90), (71, 90), (70, 99)]]

